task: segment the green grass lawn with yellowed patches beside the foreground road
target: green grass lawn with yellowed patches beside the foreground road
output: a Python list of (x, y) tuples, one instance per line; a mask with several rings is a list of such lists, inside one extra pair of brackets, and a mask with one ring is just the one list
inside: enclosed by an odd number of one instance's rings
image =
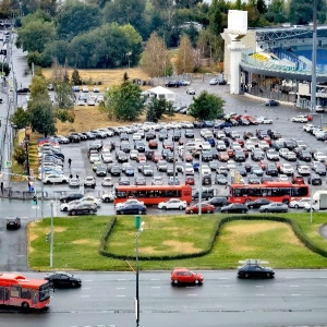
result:
[[(307, 214), (284, 214), (295, 219), (302, 231), (322, 249), (327, 240), (319, 233), (326, 214), (315, 213), (313, 223)], [(138, 238), (141, 269), (172, 269), (184, 266), (195, 269), (234, 269), (240, 259), (261, 258), (275, 268), (327, 268), (327, 258), (304, 246), (291, 227), (283, 222), (251, 220), (226, 223), (213, 251), (205, 256), (179, 261), (143, 261), (142, 256), (158, 256), (201, 252), (208, 247), (215, 226), (222, 215), (144, 216), (145, 229)], [(258, 219), (259, 219), (258, 215)], [(100, 240), (112, 217), (55, 218), (53, 269), (130, 270), (134, 261), (113, 259), (99, 254)], [(49, 244), (46, 233), (50, 219), (28, 226), (28, 263), (35, 270), (49, 269)], [(117, 255), (135, 253), (134, 217), (119, 216), (107, 250)]]

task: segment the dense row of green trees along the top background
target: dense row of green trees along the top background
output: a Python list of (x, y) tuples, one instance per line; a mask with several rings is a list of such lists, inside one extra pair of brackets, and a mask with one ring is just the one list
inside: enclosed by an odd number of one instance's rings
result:
[[(326, 1), (318, 0), (318, 21), (326, 22)], [(10, 7), (10, 5), (11, 7)], [(197, 50), (197, 58), (222, 59), (220, 33), (227, 27), (230, 9), (246, 10), (249, 26), (291, 22), (312, 22), (312, 5), (305, 0), (5, 0), (0, 13), (19, 16), (17, 45), (28, 51), (29, 62), (76, 68), (117, 68), (134, 65), (142, 45), (153, 33), (162, 46), (178, 47), (183, 34)], [(191, 22), (191, 23), (190, 23)], [(198, 24), (198, 25), (195, 25)], [(202, 26), (202, 28), (195, 28)]]

